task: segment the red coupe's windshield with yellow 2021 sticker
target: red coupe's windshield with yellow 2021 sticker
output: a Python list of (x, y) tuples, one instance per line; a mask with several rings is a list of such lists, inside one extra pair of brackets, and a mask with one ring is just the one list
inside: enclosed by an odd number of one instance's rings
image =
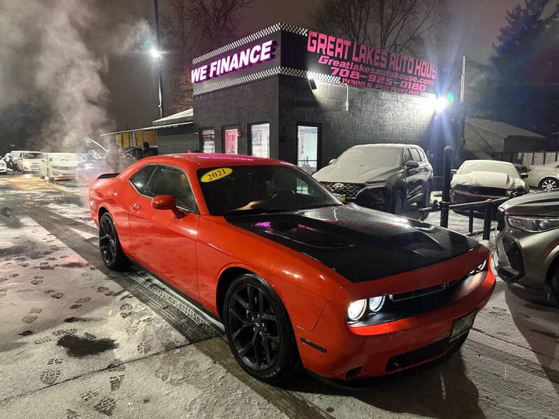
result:
[(247, 214), (343, 205), (312, 177), (289, 166), (198, 170), (210, 214)]

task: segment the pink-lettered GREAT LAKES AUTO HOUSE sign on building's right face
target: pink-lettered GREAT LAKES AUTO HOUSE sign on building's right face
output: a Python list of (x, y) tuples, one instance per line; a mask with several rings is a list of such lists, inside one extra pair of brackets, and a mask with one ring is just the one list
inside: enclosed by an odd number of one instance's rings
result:
[(307, 35), (307, 71), (359, 87), (425, 96), (435, 93), (437, 66), (316, 31)]

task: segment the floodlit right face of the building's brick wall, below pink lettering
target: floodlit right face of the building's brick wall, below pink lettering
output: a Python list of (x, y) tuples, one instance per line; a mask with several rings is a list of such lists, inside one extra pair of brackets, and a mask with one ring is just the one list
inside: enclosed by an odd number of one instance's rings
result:
[(405, 142), (423, 144), (432, 114), (426, 98), (377, 89), (349, 87), (349, 112), (345, 110), (343, 84), (279, 76), (279, 155), (296, 161), (297, 124), (321, 127), (321, 166), (358, 144)]

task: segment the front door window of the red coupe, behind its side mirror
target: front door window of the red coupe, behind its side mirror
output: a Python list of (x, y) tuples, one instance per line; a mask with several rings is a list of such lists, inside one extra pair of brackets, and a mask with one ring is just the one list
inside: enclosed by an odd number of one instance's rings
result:
[(198, 212), (187, 174), (177, 168), (157, 166), (145, 188), (145, 195), (151, 198), (157, 195), (173, 195), (177, 200), (177, 206)]

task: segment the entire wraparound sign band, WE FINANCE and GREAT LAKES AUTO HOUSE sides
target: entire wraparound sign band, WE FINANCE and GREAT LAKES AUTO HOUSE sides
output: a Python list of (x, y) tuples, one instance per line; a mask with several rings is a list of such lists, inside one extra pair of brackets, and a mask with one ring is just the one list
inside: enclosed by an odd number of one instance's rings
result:
[(430, 96), (437, 66), (278, 23), (194, 59), (191, 81), (198, 95), (278, 74)]

